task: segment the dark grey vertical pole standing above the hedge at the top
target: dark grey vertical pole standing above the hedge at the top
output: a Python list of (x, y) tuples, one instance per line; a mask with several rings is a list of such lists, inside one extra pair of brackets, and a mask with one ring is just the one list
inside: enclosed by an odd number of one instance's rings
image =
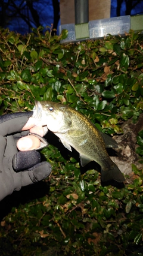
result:
[(89, 22), (88, 0), (74, 0), (75, 24)]

